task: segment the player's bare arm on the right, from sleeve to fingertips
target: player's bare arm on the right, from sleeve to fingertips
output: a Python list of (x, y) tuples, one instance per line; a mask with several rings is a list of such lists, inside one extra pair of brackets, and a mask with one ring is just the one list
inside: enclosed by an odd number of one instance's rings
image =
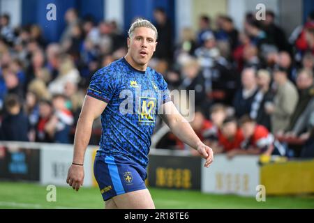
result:
[(163, 111), (160, 117), (169, 126), (170, 130), (185, 144), (195, 148), (195, 150), (207, 160), (205, 167), (209, 167), (209, 164), (211, 164), (213, 160), (213, 151), (209, 146), (204, 145), (200, 138), (197, 137), (190, 123), (181, 116), (173, 102), (166, 102), (160, 109)]

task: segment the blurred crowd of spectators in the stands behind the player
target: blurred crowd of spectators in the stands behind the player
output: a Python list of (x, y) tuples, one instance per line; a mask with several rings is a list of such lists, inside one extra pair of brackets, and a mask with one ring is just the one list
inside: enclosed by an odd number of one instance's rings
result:
[[(195, 90), (190, 124), (215, 153), (314, 157), (314, 12), (290, 36), (270, 10), (262, 21), (247, 13), (241, 31), (227, 15), (201, 15), (197, 31), (186, 27), (177, 40), (163, 8), (154, 18), (149, 66), (170, 91)], [(126, 54), (116, 22), (73, 8), (64, 19), (59, 42), (47, 43), (38, 25), (13, 29), (0, 15), (1, 140), (73, 143), (91, 76)], [(156, 147), (190, 149), (171, 132)]]

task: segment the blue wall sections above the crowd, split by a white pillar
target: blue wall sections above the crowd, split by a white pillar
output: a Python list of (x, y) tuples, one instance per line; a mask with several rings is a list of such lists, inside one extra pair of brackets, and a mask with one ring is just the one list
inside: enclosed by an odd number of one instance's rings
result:
[[(174, 1), (175, 0), (124, 0), (124, 28), (127, 30), (135, 17), (144, 17), (154, 22), (154, 8), (162, 7), (172, 20), (174, 29)], [(57, 7), (57, 21), (48, 21), (47, 4), (54, 3)], [(104, 0), (23, 0), (22, 24), (39, 24), (45, 39), (59, 41), (62, 31), (66, 27), (64, 14), (68, 8), (76, 8), (80, 17), (92, 15), (95, 22), (104, 18)]]

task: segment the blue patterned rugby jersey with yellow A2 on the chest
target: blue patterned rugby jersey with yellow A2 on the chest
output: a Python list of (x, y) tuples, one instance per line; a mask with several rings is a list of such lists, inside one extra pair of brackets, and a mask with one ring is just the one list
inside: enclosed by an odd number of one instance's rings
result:
[(146, 168), (158, 109), (170, 100), (163, 75), (149, 67), (135, 70), (122, 58), (91, 77), (87, 95), (107, 102), (97, 154), (126, 157)]

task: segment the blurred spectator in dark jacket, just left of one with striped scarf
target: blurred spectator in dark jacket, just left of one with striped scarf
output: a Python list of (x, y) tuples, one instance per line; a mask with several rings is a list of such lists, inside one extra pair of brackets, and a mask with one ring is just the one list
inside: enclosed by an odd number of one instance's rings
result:
[(233, 101), (235, 115), (238, 118), (251, 112), (253, 100), (258, 92), (255, 72), (254, 68), (245, 68), (242, 71), (242, 89), (237, 91)]

